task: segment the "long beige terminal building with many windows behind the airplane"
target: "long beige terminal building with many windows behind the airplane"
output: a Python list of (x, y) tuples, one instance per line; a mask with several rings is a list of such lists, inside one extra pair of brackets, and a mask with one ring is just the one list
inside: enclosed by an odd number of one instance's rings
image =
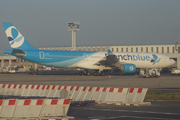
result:
[[(46, 47), (39, 48), (40, 50), (72, 50), (72, 47)], [(162, 53), (170, 56), (176, 61), (176, 64), (171, 66), (173, 69), (180, 69), (180, 44), (172, 44), (172, 45), (133, 45), (133, 46), (89, 46), (89, 47), (76, 47), (77, 51), (107, 51), (110, 49), (112, 52), (153, 52), (153, 53)], [(15, 60), (13, 58), (13, 62), (10, 57), (0, 57), (0, 65), (1, 67), (5, 67), (9, 64), (14, 64)], [(17, 66), (24, 66), (26, 68), (34, 68), (35, 70), (42, 67), (41, 65), (37, 65), (35, 63), (22, 60), (20, 58), (16, 58)]]

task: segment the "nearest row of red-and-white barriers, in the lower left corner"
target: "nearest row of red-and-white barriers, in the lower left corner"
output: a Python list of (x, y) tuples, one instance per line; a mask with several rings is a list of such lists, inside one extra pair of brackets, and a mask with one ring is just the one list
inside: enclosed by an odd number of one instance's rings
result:
[(69, 99), (6, 99), (0, 100), (1, 118), (65, 117)]

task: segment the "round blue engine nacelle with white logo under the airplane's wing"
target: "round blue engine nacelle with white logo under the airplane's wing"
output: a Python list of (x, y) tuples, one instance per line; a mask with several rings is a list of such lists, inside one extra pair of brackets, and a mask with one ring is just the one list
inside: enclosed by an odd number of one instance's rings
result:
[(123, 73), (134, 73), (136, 71), (136, 66), (134, 64), (122, 64), (121, 71)]

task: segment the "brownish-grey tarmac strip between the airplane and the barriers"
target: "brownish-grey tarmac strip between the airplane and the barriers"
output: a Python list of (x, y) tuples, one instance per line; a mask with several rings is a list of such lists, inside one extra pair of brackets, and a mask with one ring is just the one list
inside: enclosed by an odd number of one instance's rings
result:
[(138, 76), (79, 76), (79, 75), (29, 75), (28, 73), (1, 73), (0, 82), (6, 84), (50, 84), (66, 86), (149, 88), (180, 90), (180, 75), (163, 74), (159, 78)]

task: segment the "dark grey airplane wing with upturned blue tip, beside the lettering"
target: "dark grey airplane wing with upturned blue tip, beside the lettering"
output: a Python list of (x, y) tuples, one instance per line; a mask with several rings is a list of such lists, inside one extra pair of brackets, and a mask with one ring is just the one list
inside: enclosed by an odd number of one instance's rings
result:
[(120, 62), (117, 56), (108, 49), (108, 55), (95, 63), (95, 65), (102, 65), (106, 67), (120, 67)]

